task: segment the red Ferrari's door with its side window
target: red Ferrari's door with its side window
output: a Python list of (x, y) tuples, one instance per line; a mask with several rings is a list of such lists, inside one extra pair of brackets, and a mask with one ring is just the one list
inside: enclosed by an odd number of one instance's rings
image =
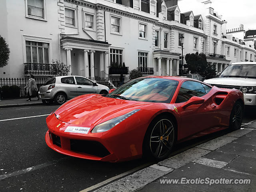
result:
[[(205, 85), (204, 85), (205, 86)], [(200, 82), (185, 81), (182, 83), (175, 106), (178, 108), (178, 114), (181, 118), (182, 137), (186, 138), (203, 130), (213, 127), (214, 112), (212, 108), (213, 101), (210, 94), (211, 87), (205, 89)], [(181, 106), (187, 102), (192, 96), (204, 98), (203, 104), (195, 104), (182, 108)]]

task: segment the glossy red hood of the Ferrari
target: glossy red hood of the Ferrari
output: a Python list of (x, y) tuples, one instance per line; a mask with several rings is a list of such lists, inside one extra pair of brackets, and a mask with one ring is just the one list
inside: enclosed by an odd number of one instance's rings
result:
[(104, 97), (99, 94), (78, 96), (58, 108), (58, 119), (70, 124), (96, 126), (150, 103)]

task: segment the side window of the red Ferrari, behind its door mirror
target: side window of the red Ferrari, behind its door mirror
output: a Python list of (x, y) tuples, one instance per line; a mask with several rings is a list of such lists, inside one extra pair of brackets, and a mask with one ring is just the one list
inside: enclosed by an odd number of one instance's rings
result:
[(193, 96), (201, 97), (205, 94), (206, 91), (201, 83), (195, 81), (185, 81), (180, 88), (176, 103), (186, 102)]

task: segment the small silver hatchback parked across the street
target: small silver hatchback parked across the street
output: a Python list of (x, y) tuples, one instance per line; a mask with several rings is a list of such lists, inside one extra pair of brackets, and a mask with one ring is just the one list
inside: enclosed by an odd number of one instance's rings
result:
[(58, 76), (48, 78), (40, 87), (38, 96), (43, 104), (55, 102), (63, 104), (66, 100), (83, 94), (108, 94), (107, 86), (97, 84), (81, 76)]

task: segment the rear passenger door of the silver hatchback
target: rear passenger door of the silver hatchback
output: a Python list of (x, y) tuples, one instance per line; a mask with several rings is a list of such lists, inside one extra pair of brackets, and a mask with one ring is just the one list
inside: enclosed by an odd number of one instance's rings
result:
[(61, 88), (66, 92), (68, 99), (77, 96), (76, 83), (73, 76), (63, 77), (60, 82)]

